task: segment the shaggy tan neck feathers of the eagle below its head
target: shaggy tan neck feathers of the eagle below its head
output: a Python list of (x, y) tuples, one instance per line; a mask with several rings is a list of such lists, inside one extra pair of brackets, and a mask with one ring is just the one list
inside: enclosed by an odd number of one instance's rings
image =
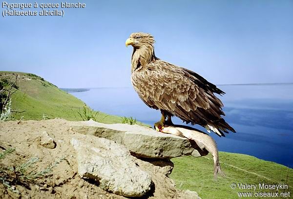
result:
[(147, 64), (156, 60), (154, 47), (152, 45), (146, 45), (141, 48), (133, 48), (131, 58), (131, 72), (144, 68)]

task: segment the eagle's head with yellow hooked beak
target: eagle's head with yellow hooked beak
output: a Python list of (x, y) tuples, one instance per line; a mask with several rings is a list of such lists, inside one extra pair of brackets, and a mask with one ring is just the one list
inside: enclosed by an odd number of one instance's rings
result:
[(126, 47), (131, 45), (133, 48), (153, 47), (154, 37), (148, 33), (132, 33), (126, 40)]

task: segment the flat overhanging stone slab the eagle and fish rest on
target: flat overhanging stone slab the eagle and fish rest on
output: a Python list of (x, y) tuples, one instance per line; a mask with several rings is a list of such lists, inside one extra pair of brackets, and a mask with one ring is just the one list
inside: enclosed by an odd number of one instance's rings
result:
[(125, 145), (131, 154), (137, 157), (170, 159), (191, 155), (194, 151), (186, 138), (139, 125), (106, 125), (90, 120), (71, 122), (70, 127), (81, 134), (94, 135)]

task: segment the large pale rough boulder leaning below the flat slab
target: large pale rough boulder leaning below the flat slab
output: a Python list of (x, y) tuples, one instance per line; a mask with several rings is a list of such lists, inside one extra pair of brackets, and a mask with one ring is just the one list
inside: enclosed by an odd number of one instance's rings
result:
[(126, 197), (144, 196), (151, 189), (151, 177), (138, 167), (125, 146), (93, 136), (72, 138), (70, 143), (77, 152), (82, 178), (97, 181), (104, 190)]

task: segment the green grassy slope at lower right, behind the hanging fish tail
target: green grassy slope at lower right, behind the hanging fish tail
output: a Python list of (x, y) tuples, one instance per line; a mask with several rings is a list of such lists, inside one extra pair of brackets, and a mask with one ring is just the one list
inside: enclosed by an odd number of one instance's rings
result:
[(175, 180), (179, 189), (196, 191), (202, 199), (236, 199), (237, 192), (275, 192), (275, 190), (258, 188), (255, 191), (240, 190), (238, 187), (232, 189), (232, 183), (285, 183), (289, 186), (285, 192), (290, 191), (293, 194), (293, 169), (244, 154), (219, 152), (219, 156), (226, 178), (218, 177), (217, 181), (214, 180), (211, 155), (201, 158), (186, 156), (172, 159), (174, 169), (169, 177)]

